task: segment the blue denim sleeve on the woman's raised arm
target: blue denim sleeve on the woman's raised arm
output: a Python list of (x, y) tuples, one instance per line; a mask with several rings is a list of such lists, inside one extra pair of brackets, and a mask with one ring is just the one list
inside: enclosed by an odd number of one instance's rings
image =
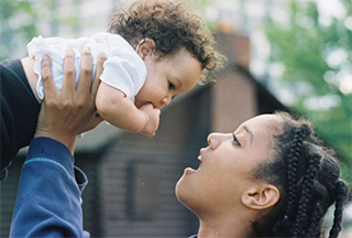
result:
[(67, 147), (50, 138), (31, 142), (14, 206), (11, 237), (89, 237), (80, 195), (86, 175)]

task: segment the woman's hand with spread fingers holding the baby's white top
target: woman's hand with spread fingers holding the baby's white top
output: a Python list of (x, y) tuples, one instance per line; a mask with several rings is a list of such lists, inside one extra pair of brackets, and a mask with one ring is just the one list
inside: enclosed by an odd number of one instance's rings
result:
[(42, 62), (45, 98), (38, 116), (36, 137), (48, 137), (67, 145), (74, 152), (76, 136), (98, 126), (102, 118), (97, 113), (95, 99), (100, 84), (106, 54), (100, 53), (94, 84), (92, 61), (88, 47), (81, 50), (80, 76), (76, 88), (75, 54), (67, 50), (64, 62), (63, 88), (57, 89), (51, 73), (51, 58)]

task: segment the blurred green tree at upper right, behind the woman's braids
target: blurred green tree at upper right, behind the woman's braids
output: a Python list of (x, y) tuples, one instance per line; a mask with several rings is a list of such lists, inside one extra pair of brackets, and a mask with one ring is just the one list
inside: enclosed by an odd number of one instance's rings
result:
[(264, 31), (271, 62), (284, 65), (279, 82), (295, 94), (293, 109), (337, 149), (351, 182), (352, 91), (346, 86), (352, 85), (352, 2), (341, 3), (345, 15), (322, 24), (316, 1), (292, 0), (289, 22), (270, 18)]

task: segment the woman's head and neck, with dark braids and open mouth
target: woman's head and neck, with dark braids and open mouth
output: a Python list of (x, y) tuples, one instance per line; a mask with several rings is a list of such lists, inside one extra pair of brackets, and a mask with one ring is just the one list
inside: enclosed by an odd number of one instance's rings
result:
[(319, 237), (333, 203), (330, 237), (338, 237), (348, 186), (308, 122), (263, 115), (208, 143), (199, 169), (187, 167), (176, 185), (199, 217), (198, 237)]

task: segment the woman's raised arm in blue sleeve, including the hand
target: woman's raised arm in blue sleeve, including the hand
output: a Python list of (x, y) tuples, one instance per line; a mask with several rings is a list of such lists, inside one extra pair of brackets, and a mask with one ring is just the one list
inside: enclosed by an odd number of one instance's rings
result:
[[(72, 82), (75, 71), (68, 67), (73, 60), (72, 52), (67, 52), (65, 60), (66, 86), (62, 90), (53, 84), (50, 58), (43, 62), (45, 99), (36, 138), (31, 142), (21, 172), (11, 237), (89, 236), (82, 230), (80, 206), (80, 194), (87, 178), (79, 169), (74, 167), (73, 149), (76, 136), (97, 126), (101, 118), (96, 117), (94, 105), (98, 80), (90, 87), (91, 56), (89, 52), (82, 53), (81, 67), (87, 71), (82, 71), (77, 88)], [(98, 77), (103, 60), (102, 55), (98, 61)], [(62, 98), (65, 100), (58, 100)]]

